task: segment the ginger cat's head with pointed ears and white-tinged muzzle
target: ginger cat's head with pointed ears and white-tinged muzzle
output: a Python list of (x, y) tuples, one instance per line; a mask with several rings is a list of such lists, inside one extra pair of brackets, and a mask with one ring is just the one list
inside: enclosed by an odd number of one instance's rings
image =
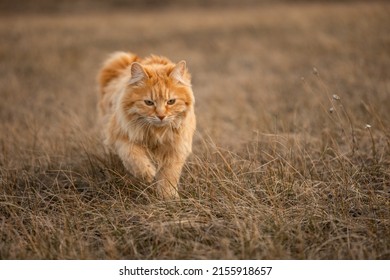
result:
[(148, 127), (180, 126), (194, 104), (185, 61), (134, 62), (128, 70), (127, 90), (120, 101), (127, 121)]

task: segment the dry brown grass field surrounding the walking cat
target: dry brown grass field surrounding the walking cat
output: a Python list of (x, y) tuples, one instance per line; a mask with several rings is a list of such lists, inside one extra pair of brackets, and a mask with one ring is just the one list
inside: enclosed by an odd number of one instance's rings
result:
[[(0, 259), (390, 259), (390, 4), (0, 16)], [(187, 60), (181, 199), (96, 131), (112, 51)]]

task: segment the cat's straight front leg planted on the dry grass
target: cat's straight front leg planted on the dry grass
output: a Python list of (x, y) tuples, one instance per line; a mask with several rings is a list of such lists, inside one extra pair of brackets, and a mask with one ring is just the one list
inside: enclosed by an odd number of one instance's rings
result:
[(184, 160), (175, 160), (163, 165), (156, 175), (157, 193), (164, 199), (179, 198), (178, 184)]

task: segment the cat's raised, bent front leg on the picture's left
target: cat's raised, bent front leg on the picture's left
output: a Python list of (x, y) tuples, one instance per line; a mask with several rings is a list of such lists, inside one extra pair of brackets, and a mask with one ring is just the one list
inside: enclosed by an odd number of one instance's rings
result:
[(133, 143), (117, 143), (118, 155), (125, 168), (135, 177), (151, 183), (156, 176), (156, 167), (145, 148)]

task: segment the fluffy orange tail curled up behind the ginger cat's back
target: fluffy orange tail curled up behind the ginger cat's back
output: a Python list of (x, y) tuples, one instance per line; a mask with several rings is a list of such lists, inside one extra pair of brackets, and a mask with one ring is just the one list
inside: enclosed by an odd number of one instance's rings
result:
[(131, 63), (138, 61), (139, 58), (128, 52), (115, 52), (104, 62), (102, 69), (99, 72), (98, 81), (100, 93), (104, 95), (107, 85), (117, 78), (124, 69)]

